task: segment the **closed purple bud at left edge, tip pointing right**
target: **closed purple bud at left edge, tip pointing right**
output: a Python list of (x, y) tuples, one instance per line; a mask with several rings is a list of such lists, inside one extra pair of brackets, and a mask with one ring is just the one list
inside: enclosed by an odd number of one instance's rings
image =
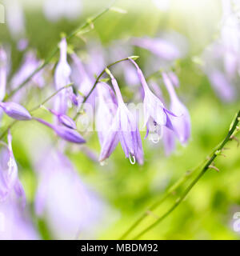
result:
[(15, 102), (0, 102), (2, 110), (16, 120), (30, 120), (32, 117), (25, 107)]

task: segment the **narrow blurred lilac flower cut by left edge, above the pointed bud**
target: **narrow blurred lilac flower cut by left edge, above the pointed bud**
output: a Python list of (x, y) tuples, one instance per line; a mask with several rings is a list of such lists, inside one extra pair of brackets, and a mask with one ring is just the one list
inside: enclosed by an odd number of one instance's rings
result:
[(7, 73), (7, 58), (5, 50), (0, 47), (0, 102), (6, 94), (6, 73)]

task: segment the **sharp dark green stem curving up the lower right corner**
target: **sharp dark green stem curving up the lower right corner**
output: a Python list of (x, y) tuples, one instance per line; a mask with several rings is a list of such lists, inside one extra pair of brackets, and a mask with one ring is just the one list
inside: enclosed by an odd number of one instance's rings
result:
[(221, 153), (223, 147), (226, 145), (227, 142), (230, 141), (232, 138), (231, 136), (234, 135), (235, 130), (237, 130), (238, 122), (240, 121), (240, 110), (238, 111), (238, 114), (236, 114), (236, 117), (234, 118), (234, 122), (232, 123), (230, 130), (228, 134), (226, 135), (226, 138), (223, 140), (223, 142), (218, 146), (218, 149), (214, 152), (214, 154), (211, 156), (211, 158), (206, 162), (205, 166), (203, 166), (201, 172), (198, 174), (196, 178), (194, 178), (193, 182), (190, 183), (190, 186), (186, 188), (184, 193), (180, 198), (176, 200), (174, 205), (170, 207), (169, 210), (166, 211), (165, 214), (162, 215), (162, 217), (158, 218), (157, 221), (155, 221), (153, 224), (148, 226), (145, 230), (142, 230), (141, 233), (139, 233), (137, 236), (134, 237), (134, 239), (140, 238), (143, 234), (146, 234), (149, 230), (154, 228), (154, 226), (157, 226), (159, 222), (162, 222), (163, 219), (165, 219), (168, 215), (170, 215), (171, 212), (173, 212), (179, 205), (180, 203), (186, 198), (187, 194), (190, 193), (190, 190), (194, 187), (194, 185), (199, 181), (200, 178), (206, 173), (206, 170), (210, 168), (210, 165), (212, 162), (214, 162), (214, 159), (217, 158), (219, 153)]

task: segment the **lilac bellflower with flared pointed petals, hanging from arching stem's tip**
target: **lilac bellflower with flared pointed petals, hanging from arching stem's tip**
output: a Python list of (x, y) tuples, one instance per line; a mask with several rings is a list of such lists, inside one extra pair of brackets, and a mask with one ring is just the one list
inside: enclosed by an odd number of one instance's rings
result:
[(144, 111), (144, 125), (147, 127), (146, 137), (149, 131), (162, 136), (162, 127), (167, 126), (173, 130), (172, 123), (170, 121), (170, 115), (176, 117), (175, 114), (167, 110), (162, 103), (162, 101), (155, 96), (150, 90), (149, 86), (146, 83), (146, 79), (142, 74), (142, 70), (138, 67), (138, 64), (130, 58), (130, 62), (134, 63), (134, 66), (137, 68), (138, 78), (142, 83), (144, 90), (144, 99), (143, 99), (143, 111)]

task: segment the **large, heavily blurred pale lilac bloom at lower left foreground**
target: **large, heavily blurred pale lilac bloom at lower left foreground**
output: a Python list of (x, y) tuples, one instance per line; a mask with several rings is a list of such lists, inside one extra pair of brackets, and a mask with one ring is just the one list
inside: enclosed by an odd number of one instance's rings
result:
[(95, 237), (103, 218), (103, 204), (80, 180), (70, 161), (56, 150), (38, 163), (35, 210), (46, 218), (54, 238)]

